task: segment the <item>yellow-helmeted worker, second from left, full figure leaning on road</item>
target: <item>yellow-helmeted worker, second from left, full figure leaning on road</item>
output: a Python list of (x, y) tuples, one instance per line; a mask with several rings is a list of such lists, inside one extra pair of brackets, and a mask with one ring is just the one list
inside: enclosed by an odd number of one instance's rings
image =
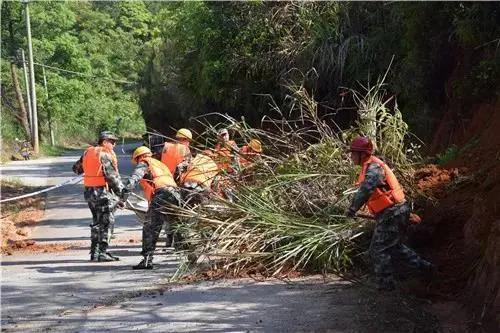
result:
[(144, 196), (149, 202), (148, 219), (142, 228), (142, 261), (133, 269), (152, 269), (153, 255), (158, 237), (163, 225), (166, 225), (167, 235), (170, 234), (170, 223), (174, 217), (168, 213), (169, 205), (180, 204), (180, 194), (177, 184), (168, 167), (152, 158), (148, 147), (137, 148), (132, 155), (136, 167), (130, 176), (122, 193), (126, 200), (128, 194), (140, 183)]

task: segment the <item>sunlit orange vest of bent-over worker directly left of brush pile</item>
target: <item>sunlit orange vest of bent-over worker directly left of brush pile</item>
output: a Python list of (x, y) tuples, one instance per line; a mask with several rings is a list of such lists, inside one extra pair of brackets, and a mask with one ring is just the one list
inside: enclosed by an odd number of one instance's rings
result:
[(217, 164), (209, 156), (198, 154), (181, 175), (181, 184), (193, 182), (210, 188), (215, 176), (219, 173)]

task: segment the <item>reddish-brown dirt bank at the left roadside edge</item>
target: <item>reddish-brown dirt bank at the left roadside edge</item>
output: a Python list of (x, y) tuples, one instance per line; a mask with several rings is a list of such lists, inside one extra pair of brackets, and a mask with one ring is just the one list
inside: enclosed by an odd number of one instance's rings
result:
[[(13, 182), (1, 182), (2, 199), (17, 197), (37, 188), (25, 187)], [(31, 230), (41, 220), (45, 210), (45, 196), (35, 196), (7, 202), (1, 209), (2, 254), (14, 251), (54, 252), (64, 250), (63, 245), (40, 245), (30, 240)]]

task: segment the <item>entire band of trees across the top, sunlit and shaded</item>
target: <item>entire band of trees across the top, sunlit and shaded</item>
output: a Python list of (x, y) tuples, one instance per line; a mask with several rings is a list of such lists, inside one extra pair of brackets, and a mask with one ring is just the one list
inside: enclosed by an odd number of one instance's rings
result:
[[(270, 98), (282, 103), (291, 84), (304, 84), (321, 112), (345, 126), (356, 114), (346, 89), (373, 84), (388, 68), (388, 96), (424, 137), (451, 104), (467, 117), (498, 97), (496, 2), (44, 1), (30, 12), (45, 139), (49, 110), (62, 142), (103, 128), (138, 133), (143, 119), (169, 134), (208, 112), (258, 126)], [(6, 139), (23, 135), (10, 68), (25, 92), (20, 49), (23, 4), (4, 2)]]

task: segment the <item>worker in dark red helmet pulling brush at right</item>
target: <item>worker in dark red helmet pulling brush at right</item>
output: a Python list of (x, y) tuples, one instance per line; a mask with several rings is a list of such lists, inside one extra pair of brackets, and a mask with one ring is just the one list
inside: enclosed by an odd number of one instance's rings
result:
[(358, 191), (346, 215), (354, 217), (366, 205), (377, 221), (369, 255), (379, 289), (394, 289), (393, 261), (396, 259), (413, 268), (431, 272), (433, 265), (403, 244), (409, 225), (410, 206), (392, 170), (372, 155), (373, 144), (369, 138), (355, 138), (350, 151), (352, 161), (361, 165), (361, 173), (357, 182)]

